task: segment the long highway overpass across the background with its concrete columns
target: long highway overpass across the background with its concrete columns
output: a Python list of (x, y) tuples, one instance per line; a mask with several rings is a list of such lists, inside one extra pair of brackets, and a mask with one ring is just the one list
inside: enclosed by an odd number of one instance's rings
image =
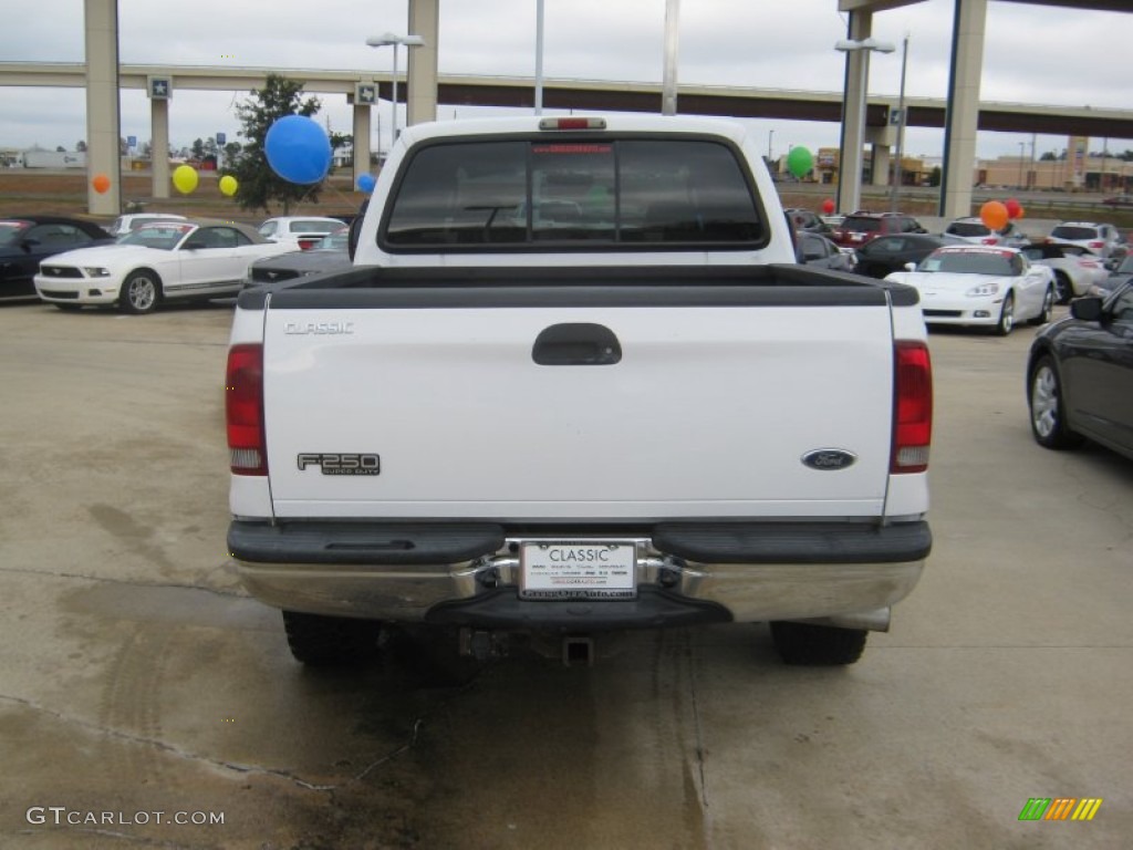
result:
[[(872, 17), (921, 0), (838, 0), (847, 12), (846, 36), (851, 42), (871, 36)], [(1010, 2), (1065, 6), (1090, 10), (1133, 11), (1128, 0), (1005, 0)], [(440, 0), (407, 0), (409, 32), (424, 39), (424, 46), (407, 51), (404, 92), (410, 124), (436, 116), (440, 104), (531, 107), (534, 80), (489, 77), (442, 77), (437, 73), (440, 42)], [(943, 215), (968, 214), (971, 207), (971, 170), (976, 160), (976, 134), (979, 129), (1015, 133), (1083, 135), (1133, 138), (1133, 113), (1117, 110), (1051, 108), (1025, 104), (985, 104), (978, 100), (982, 69), (983, 29), (989, 0), (954, 0), (952, 22), (953, 56), (946, 101), (906, 99), (906, 126), (943, 127), (944, 185), (939, 212)], [(248, 91), (259, 87), (267, 75), (262, 68), (231, 67), (143, 67), (118, 61), (117, 0), (85, 0), (84, 29), (86, 61), (71, 65), (0, 63), (0, 85), (66, 85), (84, 87), (87, 100), (87, 162), (92, 173), (113, 175), (104, 195), (88, 192), (92, 213), (119, 212), (118, 93), (122, 87), (146, 88), (151, 97), (152, 142), (155, 150), (168, 147), (168, 86), (176, 88), (215, 88)], [(741, 118), (838, 121), (842, 128), (838, 209), (855, 203), (862, 173), (862, 145), (875, 143), (875, 172), (887, 171), (888, 109), (892, 99), (867, 99), (866, 68), (868, 50), (846, 52), (843, 92), (794, 92), (774, 90), (681, 86), (679, 111)], [(352, 97), (358, 86), (370, 95), (391, 96), (387, 77), (369, 71), (282, 70), (303, 79), (306, 88), (324, 94)], [(159, 93), (162, 92), (162, 93)], [(675, 95), (673, 95), (675, 99)], [(400, 100), (400, 99), (399, 99)], [(553, 109), (662, 111), (662, 86), (632, 83), (586, 80), (544, 80), (543, 105)], [(356, 103), (353, 109), (355, 177), (369, 162), (370, 107)], [(852, 142), (850, 142), (852, 141)], [(880, 143), (878, 147), (877, 143)], [(153, 171), (154, 196), (169, 193), (168, 163), (159, 159)], [(846, 198), (851, 201), (846, 202)]]

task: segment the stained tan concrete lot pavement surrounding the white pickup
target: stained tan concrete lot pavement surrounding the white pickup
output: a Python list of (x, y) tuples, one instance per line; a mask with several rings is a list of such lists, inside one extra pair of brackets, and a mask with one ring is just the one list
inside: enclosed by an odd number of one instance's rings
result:
[(1128, 845), (1133, 462), (1033, 444), (1030, 329), (931, 335), (936, 546), (859, 664), (725, 626), (461, 677), (306, 671), (240, 590), (229, 321), (0, 306), (0, 845)]

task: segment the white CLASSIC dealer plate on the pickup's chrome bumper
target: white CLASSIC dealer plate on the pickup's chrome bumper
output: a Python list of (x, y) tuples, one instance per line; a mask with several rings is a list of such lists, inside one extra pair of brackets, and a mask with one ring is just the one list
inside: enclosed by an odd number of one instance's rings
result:
[(525, 543), (519, 595), (525, 600), (631, 600), (637, 596), (632, 543)]

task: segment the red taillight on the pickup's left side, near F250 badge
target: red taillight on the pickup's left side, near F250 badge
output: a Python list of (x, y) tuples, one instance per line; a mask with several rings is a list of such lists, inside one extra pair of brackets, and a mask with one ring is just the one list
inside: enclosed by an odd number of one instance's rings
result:
[(228, 451), (237, 475), (267, 475), (264, 447), (264, 348), (232, 346), (224, 380)]

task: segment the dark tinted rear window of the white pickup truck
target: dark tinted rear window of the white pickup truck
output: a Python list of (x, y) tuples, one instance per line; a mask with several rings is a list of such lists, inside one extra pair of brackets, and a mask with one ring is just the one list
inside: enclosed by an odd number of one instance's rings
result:
[(409, 160), (383, 243), (390, 249), (752, 247), (765, 238), (735, 154), (706, 141), (438, 143)]

